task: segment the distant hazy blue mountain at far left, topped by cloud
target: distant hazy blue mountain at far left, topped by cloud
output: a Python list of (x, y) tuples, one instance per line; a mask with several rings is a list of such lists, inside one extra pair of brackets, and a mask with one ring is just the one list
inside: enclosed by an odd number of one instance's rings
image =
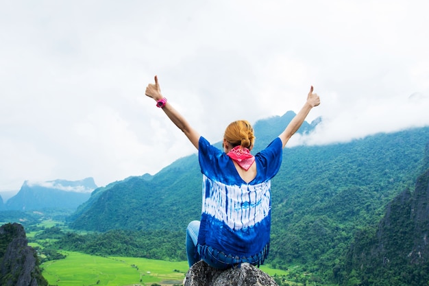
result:
[(72, 209), (86, 202), (97, 188), (93, 178), (48, 182), (25, 181), (14, 197), (5, 203), (5, 210), (42, 211), (43, 209)]

